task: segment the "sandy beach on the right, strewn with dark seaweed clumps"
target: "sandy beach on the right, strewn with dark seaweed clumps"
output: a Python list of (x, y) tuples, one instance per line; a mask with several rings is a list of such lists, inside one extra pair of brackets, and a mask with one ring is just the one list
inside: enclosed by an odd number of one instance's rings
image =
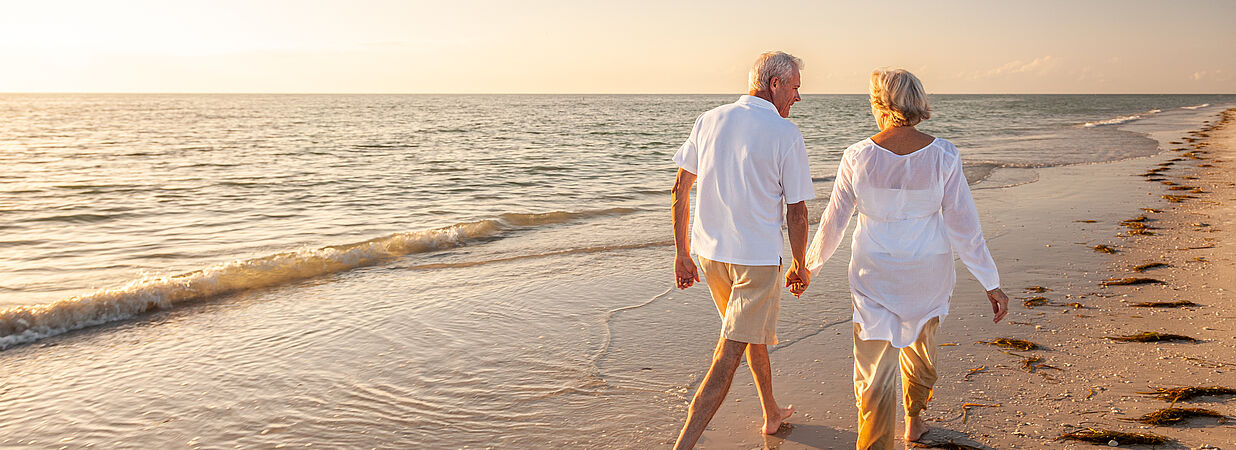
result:
[[(925, 412), (932, 427), (925, 438), (928, 446), (1090, 448), (1094, 444), (1058, 439), (1086, 429), (1170, 440), (1158, 448), (1236, 445), (1236, 427), (1216, 418), (1164, 427), (1131, 422), (1173, 405), (1146, 392), (1236, 387), (1234, 115), (1236, 110), (1227, 110), (1205, 122), (1135, 130), (1159, 141), (1163, 151), (1156, 156), (1036, 169), (1037, 182), (1000, 189), (999, 198), (983, 183), (975, 187), (1011, 312), (993, 324), (981, 287), (958, 265), (952, 310), (938, 335), (941, 380)], [(1114, 252), (1096, 250), (1100, 245)], [(1133, 270), (1154, 263), (1161, 266)], [(828, 262), (834, 268), (844, 265)], [(1104, 286), (1125, 278), (1149, 281)], [(782, 308), (794, 308), (795, 302), (849, 299), (808, 291), (801, 300), (786, 295), (782, 302)], [(1137, 307), (1153, 302), (1195, 305)], [(1143, 331), (1196, 341), (1109, 339)], [(1032, 341), (1037, 349), (980, 344), (999, 338)], [(779, 402), (798, 408), (790, 425), (772, 436), (758, 433), (759, 401), (750, 373), (739, 368), (700, 448), (853, 448), (849, 323), (781, 346), (771, 357)], [(1198, 397), (1174, 407), (1236, 417), (1231, 396)]]

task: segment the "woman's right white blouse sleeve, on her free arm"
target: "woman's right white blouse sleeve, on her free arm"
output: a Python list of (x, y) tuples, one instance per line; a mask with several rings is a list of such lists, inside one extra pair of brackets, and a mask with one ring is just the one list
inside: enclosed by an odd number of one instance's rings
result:
[(970, 197), (970, 185), (962, 172), (962, 158), (958, 157), (944, 179), (944, 199), (942, 202), (944, 227), (948, 231), (953, 251), (962, 257), (962, 263), (979, 279), (984, 289), (1000, 287), (1000, 273), (996, 262), (991, 260), (988, 242), (983, 239), (979, 225), (979, 210)]

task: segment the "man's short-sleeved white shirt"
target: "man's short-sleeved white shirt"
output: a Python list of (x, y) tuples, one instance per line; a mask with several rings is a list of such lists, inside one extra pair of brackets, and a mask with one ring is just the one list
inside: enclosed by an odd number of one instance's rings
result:
[(743, 95), (696, 119), (674, 162), (697, 176), (692, 253), (743, 266), (777, 266), (782, 204), (816, 197), (807, 147), (772, 103)]

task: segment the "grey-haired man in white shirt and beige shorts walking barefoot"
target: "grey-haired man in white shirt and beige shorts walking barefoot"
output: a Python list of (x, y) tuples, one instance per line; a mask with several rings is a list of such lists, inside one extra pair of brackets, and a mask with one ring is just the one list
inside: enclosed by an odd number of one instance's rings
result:
[[(707, 279), (722, 316), (712, 366), (679, 434), (677, 449), (695, 446), (729, 392), (747, 352), (764, 407), (764, 433), (772, 434), (794, 414), (772, 398), (768, 345), (776, 344), (781, 305), (781, 224), (789, 221), (794, 261), (787, 287), (797, 297), (811, 273), (805, 266), (807, 205), (815, 198), (802, 134), (785, 117), (798, 98), (802, 59), (784, 52), (760, 54), (750, 72), (750, 93), (696, 120), (674, 162), (679, 164), (671, 204), (677, 255), (674, 276), (680, 289)], [(696, 220), (691, 223), (691, 185), (698, 180)], [(786, 205), (782, 218), (781, 204)]]

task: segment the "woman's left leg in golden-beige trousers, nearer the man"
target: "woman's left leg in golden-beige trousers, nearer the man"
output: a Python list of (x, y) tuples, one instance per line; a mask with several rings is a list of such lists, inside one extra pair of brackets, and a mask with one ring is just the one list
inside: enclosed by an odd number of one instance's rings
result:
[(854, 398), (858, 401), (858, 450), (892, 449), (897, 423), (897, 347), (889, 341), (859, 339), (854, 324)]

